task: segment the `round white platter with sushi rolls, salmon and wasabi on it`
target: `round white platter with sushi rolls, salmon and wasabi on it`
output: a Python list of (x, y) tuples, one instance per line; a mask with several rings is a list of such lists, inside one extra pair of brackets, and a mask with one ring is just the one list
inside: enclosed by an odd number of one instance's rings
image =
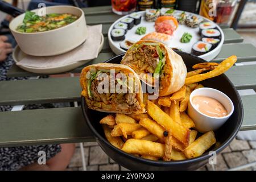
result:
[(117, 55), (138, 40), (148, 39), (210, 61), (220, 53), (224, 34), (216, 23), (203, 16), (162, 8), (139, 11), (116, 20), (109, 28), (108, 39)]

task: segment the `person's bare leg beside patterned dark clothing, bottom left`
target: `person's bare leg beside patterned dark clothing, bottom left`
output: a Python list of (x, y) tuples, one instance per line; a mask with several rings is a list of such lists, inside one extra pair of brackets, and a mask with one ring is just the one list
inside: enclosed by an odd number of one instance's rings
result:
[(53, 158), (47, 160), (46, 165), (39, 165), (33, 163), (21, 168), (22, 171), (62, 171), (68, 167), (68, 164), (75, 152), (74, 143), (60, 144), (61, 152), (56, 154)]

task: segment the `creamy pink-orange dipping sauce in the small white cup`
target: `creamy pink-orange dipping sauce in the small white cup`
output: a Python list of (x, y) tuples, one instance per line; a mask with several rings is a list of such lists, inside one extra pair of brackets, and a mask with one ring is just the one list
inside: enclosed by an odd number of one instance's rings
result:
[(225, 107), (216, 99), (207, 96), (195, 96), (192, 99), (193, 105), (201, 113), (210, 117), (225, 117), (228, 115), (228, 111)]

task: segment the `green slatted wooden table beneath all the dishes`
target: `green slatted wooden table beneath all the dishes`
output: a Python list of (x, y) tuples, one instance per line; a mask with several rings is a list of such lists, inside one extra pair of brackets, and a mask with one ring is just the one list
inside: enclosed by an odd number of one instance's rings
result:
[[(80, 73), (89, 64), (101, 63), (114, 56), (108, 44), (108, 29), (120, 18), (112, 13), (110, 6), (84, 9), (88, 24), (102, 24), (105, 36), (104, 48), (100, 55), (71, 73)], [(221, 61), (230, 55), (237, 55), (238, 63), (226, 75), (238, 90), (256, 89), (256, 65), (242, 65), (256, 60), (256, 48), (243, 43), (243, 38), (232, 28), (224, 28), (225, 44), (213, 61)], [(13, 65), (8, 77), (38, 76)], [(221, 84), (221, 83), (220, 83)], [(55, 102), (80, 101), (79, 77), (42, 78), (38, 80), (18, 80), (0, 82), (0, 105), (24, 105)], [(245, 117), (241, 130), (256, 129), (256, 95), (241, 96)], [(77, 143), (95, 140), (90, 133), (81, 107), (62, 107), (0, 112), (0, 147), (31, 144)]]

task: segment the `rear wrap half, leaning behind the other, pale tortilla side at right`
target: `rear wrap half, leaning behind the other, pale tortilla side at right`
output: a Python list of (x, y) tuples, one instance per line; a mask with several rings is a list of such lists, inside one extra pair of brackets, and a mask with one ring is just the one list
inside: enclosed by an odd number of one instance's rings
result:
[(168, 96), (179, 90), (187, 76), (187, 68), (181, 56), (154, 40), (134, 43), (121, 64), (132, 68), (150, 86), (156, 86), (156, 78), (159, 78), (159, 96)]

